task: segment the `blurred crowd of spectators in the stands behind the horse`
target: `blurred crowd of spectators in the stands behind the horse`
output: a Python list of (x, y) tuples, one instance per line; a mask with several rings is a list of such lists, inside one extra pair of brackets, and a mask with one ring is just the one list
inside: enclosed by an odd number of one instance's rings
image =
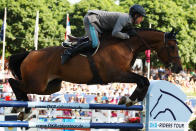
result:
[[(138, 74), (142, 74), (141, 70), (134, 70)], [(9, 72), (7, 71), (9, 74)], [(147, 74), (144, 74), (147, 76)], [(196, 94), (196, 70), (184, 70), (179, 74), (171, 73), (169, 70), (152, 67), (150, 70), (150, 80), (167, 80), (179, 87), (186, 93)], [(14, 100), (14, 94), (9, 87), (8, 82), (2, 81), (1, 99)], [(108, 103), (117, 104), (121, 96), (132, 94), (136, 87), (133, 83), (111, 83), (108, 85), (90, 85), (74, 84), (69, 82), (62, 82), (62, 88), (58, 93), (50, 96), (37, 96), (34, 94), (28, 95), (30, 101), (53, 101), (53, 102), (65, 102), (65, 103)], [(190, 103), (190, 106), (192, 104)], [(196, 106), (191, 107), (195, 110)], [(2, 111), (0, 112), (2, 113)], [(126, 111), (124, 112), (127, 113)], [(41, 115), (47, 114), (46, 111), (40, 111)], [(112, 111), (111, 117), (116, 117), (117, 111)], [(64, 111), (66, 116), (91, 116), (92, 112), (84, 112), (82, 110), (66, 110)], [(133, 114), (129, 114), (134, 116)]]

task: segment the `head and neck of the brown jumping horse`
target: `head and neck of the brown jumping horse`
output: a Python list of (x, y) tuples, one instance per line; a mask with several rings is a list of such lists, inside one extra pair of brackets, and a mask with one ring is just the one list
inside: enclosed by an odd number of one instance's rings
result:
[(136, 31), (136, 37), (130, 41), (130, 43), (138, 43), (130, 44), (133, 49), (136, 49), (136, 53), (147, 49), (155, 50), (166, 68), (170, 68), (174, 73), (179, 73), (182, 70), (176, 40), (178, 31), (172, 29), (171, 32), (162, 32), (149, 28), (136, 28)]

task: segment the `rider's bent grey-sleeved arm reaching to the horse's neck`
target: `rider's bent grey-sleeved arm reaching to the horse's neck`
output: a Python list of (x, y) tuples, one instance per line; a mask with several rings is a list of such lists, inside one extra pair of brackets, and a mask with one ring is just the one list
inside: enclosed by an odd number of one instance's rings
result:
[(122, 33), (122, 29), (124, 26), (126, 26), (129, 23), (129, 17), (126, 16), (119, 16), (113, 31), (112, 31), (112, 36), (121, 38), (121, 39), (129, 39), (129, 35), (127, 33)]

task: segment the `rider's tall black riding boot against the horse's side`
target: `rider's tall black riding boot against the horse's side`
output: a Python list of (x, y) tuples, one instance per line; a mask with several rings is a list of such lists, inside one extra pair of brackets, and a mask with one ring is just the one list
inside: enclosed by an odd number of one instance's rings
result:
[(76, 54), (82, 51), (88, 50), (91, 47), (92, 47), (91, 42), (87, 41), (65, 49), (63, 55), (61, 56), (61, 64), (62, 65), (65, 64), (67, 61), (69, 61), (71, 57), (75, 56)]

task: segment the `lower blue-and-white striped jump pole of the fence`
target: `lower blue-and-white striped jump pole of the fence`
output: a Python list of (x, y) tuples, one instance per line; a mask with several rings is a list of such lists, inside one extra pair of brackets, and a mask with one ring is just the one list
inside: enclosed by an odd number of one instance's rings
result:
[(29, 127), (29, 128), (104, 128), (104, 129), (142, 129), (141, 123), (79, 123), (79, 122), (28, 122), (0, 121), (0, 127)]

